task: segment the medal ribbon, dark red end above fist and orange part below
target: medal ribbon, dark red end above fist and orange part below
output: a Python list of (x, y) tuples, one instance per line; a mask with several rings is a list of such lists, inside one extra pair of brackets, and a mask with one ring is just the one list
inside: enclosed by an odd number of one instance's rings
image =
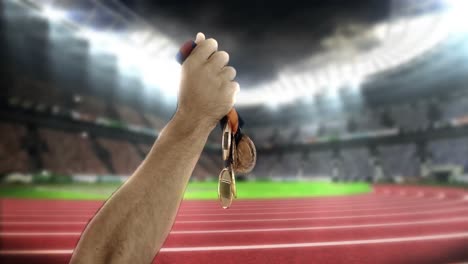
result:
[[(196, 46), (197, 44), (192, 40), (185, 42), (176, 55), (177, 61), (182, 65)], [(235, 108), (232, 108), (231, 111), (219, 121), (221, 129), (224, 129), (227, 122), (229, 122), (229, 126), (231, 126), (234, 140), (236, 144), (238, 144), (243, 136), (241, 128), (244, 126), (244, 121)]]

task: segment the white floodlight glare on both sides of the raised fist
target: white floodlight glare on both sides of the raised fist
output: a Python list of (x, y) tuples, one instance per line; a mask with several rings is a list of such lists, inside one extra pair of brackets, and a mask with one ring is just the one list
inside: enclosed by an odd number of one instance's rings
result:
[[(310, 64), (282, 70), (269, 83), (241, 89), (237, 105), (268, 104), (276, 108), (316, 94), (336, 94), (341, 88), (358, 91), (370, 75), (410, 62), (453, 31), (468, 30), (468, 0), (440, 1), (447, 6), (440, 14), (400, 18), (371, 28), (380, 44), (360, 51), (354, 58), (338, 58), (339, 50), (328, 52), (333, 56), (318, 54), (306, 60)], [(51, 6), (43, 7), (42, 14), (53, 22), (66, 19), (65, 12)], [(121, 74), (139, 76), (146, 88), (160, 91), (167, 98), (177, 95), (180, 78), (180, 66), (174, 60), (177, 46), (166, 36), (145, 29), (126, 39), (112, 32), (92, 30), (79, 32), (79, 37), (89, 41), (91, 54), (115, 55)], [(317, 61), (325, 63), (317, 67)]]

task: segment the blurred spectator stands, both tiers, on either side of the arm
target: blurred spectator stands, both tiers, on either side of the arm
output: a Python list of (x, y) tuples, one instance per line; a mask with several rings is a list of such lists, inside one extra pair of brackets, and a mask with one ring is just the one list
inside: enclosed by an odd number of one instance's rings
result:
[[(61, 93), (54, 86), (26, 78), (14, 82), (4, 109), (45, 114), (50, 118), (96, 122), (102, 118), (120, 124), (118, 128), (142, 127), (160, 131), (167, 118), (125, 104), (110, 104), (97, 97)], [(412, 104), (391, 104), (356, 112), (322, 117), (327, 122), (302, 122), (288, 126), (250, 124), (248, 133), (260, 148), (311, 144), (321, 137), (359, 134), (395, 129), (398, 133), (424, 132), (453, 120), (466, 118), (468, 94), (454, 93), (445, 98), (424, 98)], [(76, 117), (79, 117), (76, 119)], [(138, 130), (137, 130), (138, 132)], [(209, 143), (219, 144), (215, 129)], [(144, 159), (151, 144), (96, 136), (88, 131), (62, 131), (31, 124), (0, 122), (0, 174), (50, 171), (59, 174), (130, 175)], [(320, 177), (364, 180), (376, 174), (418, 176), (421, 165), (451, 164), (468, 169), (468, 137), (427, 142), (426, 154), (416, 144), (345, 148), (342, 150), (284, 150), (259, 155), (252, 176)], [(194, 171), (198, 179), (214, 177), (222, 165), (219, 155), (205, 152)]]

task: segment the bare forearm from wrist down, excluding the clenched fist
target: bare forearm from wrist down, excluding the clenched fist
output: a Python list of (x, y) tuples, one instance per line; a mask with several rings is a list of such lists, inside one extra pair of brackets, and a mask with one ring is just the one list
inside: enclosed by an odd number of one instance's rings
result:
[(90, 222), (72, 263), (149, 263), (171, 229), (212, 128), (176, 115), (134, 175)]

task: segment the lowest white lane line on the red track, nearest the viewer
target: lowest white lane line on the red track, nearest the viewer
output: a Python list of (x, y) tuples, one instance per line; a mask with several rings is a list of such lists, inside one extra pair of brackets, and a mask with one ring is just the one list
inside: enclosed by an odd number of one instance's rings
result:
[[(468, 232), (436, 234), (426, 236), (391, 237), (380, 239), (326, 241), (311, 243), (290, 244), (264, 244), (264, 245), (240, 245), (240, 246), (209, 246), (209, 247), (171, 247), (162, 248), (161, 253), (168, 252), (195, 252), (195, 251), (232, 251), (232, 250), (258, 250), (258, 249), (285, 249), (285, 248), (314, 248), (355, 246), (371, 244), (405, 243), (405, 242), (429, 242), (435, 240), (468, 239)], [(72, 254), (73, 249), (54, 250), (0, 250), (0, 255), (64, 255)]]

